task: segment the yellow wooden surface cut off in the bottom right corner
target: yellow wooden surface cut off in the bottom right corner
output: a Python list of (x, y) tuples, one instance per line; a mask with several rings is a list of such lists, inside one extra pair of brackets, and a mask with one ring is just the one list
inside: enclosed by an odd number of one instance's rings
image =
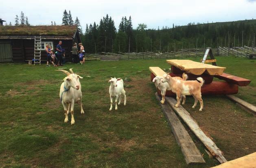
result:
[(256, 152), (212, 168), (256, 168)]

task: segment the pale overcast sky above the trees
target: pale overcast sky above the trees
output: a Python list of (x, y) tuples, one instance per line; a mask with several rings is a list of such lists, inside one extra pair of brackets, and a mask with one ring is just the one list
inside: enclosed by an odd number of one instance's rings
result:
[[(79, 1), (77, 1), (79, 2)], [(108, 14), (114, 19), (116, 28), (123, 16), (129, 18), (133, 28), (138, 23), (148, 28), (172, 27), (190, 22), (209, 23), (256, 19), (256, 0), (4, 0), (0, 5), (0, 18), (14, 24), (15, 15), (23, 11), (31, 25), (62, 23), (64, 10), (71, 11), (73, 19), (78, 17), (83, 30), (88, 23), (99, 23)]]

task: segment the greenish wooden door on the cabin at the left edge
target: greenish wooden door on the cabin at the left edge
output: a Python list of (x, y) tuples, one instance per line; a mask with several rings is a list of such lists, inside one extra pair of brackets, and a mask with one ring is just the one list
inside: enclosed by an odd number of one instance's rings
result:
[(0, 40), (0, 62), (13, 61), (13, 54), (11, 51), (11, 42), (7, 40)]

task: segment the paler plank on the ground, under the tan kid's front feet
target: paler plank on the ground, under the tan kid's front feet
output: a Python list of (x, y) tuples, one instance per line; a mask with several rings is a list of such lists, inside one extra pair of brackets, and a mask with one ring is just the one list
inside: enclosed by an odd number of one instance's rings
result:
[[(176, 111), (176, 113), (183, 119), (183, 121), (188, 125), (190, 130), (194, 132), (199, 140), (206, 146), (206, 148), (210, 151), (213, 157), (216, 157), (220, 163), (227, 162), (225, 157), (223, 156), (222, 151), (216, 146), (216, 144), (208, 137), (204, 132), (199, 128), (197, 122), (190, 116), (188, 111), (182, 106), (175, 107), (177, 101), (171, 97), (165, 97), (165, 101), (170, 104), (170, 106)], [(201, 112), (202, 113), (202, 112)], [(203, 113), (202, 113), (203, 114)]]

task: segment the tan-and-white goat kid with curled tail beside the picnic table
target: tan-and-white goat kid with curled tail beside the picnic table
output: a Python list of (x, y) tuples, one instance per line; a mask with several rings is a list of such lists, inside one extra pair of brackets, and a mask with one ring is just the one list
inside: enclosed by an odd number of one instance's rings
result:
[(202, 111), (203, 109), (203, 100), (201, 96), (201, 87), (203, 86), (203, 78), (198, 77), (198, 81), (179, 81), (177, 79), (174, 79), (168, 74), (163, 75), (163, 83), (168, 83), (169, 86), (172, 88), (172, 91), (176, 94), (177, 98), (177, 104), (175, 104), (175, 107), (178, 107), (180, 104), (180, 97), (181, 95), (192, 95), (195, 99), (195, 103), (192, 106), (192, 108), (195, 108), (197, 105), (197, 102), (199, 100), (200, 102), (200, 108), (199, 111)]

